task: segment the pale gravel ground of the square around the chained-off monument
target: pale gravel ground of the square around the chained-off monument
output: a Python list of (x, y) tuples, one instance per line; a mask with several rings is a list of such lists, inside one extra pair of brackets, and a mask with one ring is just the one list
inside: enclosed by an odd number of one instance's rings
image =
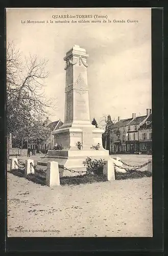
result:
[(7, 176), (9, 237), (152, 237), (152, 177), (50, 188)]

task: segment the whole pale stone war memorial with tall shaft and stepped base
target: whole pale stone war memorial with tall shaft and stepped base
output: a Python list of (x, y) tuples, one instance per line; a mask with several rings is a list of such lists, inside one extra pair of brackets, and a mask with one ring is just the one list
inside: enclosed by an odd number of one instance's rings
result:
[[(87, 157), (109, 159), (109, 151), (102, 145), (104, 130), (95, 128), (90, 122), (87, 58), (86, 50), (77, 45), (66, 52), (64, 123), (52, 133), (54, 143), (62, 144), (63, 150), (49, 150), (43, 163), (57, 161), (59, 167), (86, 170), (82, 162)], [(95, 150), (92, 146), (98, 143), (99, 150)], [(81, 144), (80, 149), (77, 144)], [(63, 172), (63, 176), (70, 175), (76, 175), (76, 173)]]

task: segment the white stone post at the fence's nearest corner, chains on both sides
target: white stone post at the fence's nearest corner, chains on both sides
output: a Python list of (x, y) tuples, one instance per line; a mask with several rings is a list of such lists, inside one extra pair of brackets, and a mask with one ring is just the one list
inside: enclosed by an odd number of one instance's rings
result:
[(58, 162), (51, 161), (47, 163), (46, 185), (49, 187), (60, 185)]

